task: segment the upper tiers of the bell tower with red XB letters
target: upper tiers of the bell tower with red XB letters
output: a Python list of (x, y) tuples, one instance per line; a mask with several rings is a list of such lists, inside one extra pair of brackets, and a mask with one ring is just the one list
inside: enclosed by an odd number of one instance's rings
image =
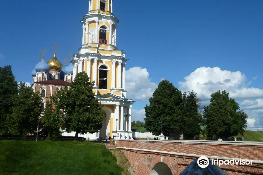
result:
[(103, 48), (117, 49), (119, 20), (113, 15), (112, 4), (113, 0), (89, 0), (89, 13), (81, 21), (82, 47), (96, 43)]

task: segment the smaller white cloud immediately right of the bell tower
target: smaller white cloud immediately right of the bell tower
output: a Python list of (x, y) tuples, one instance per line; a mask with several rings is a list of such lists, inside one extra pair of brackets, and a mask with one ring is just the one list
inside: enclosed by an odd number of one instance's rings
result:
[(132, 67), (125, 71), (125, 88), (128, 90), (128, 98), (148, 101), (157, 87), (157, 83), (151, 82), (147, 69)]

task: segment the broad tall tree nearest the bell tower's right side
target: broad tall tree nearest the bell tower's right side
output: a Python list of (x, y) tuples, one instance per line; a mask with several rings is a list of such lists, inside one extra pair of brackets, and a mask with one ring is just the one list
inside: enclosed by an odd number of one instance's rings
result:
[[(145, 128), (153, 135), (169, 135), (168, 129), (182, 129), (182, 112), (180, 103), (182, 92), (167, 80), (162, 80), (155, 89), (150, 105), (145, 106)], [(161, 125), (160, 122), (163, 124)], [(166, 125), (166, 126), (165, 126)]]

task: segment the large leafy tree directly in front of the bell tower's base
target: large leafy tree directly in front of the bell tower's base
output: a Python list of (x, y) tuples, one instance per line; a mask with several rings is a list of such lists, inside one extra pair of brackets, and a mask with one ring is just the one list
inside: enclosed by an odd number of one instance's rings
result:
[(75, 131), (76, 140), (78, 134), (98, 132), (104, 118), (100, 103), (92, 91), (94, 82), (89, 79), (85, 72), (78, 73), (70, 88), (61, 88), (53, 98), (56, 108), (64, 110), (65, 130)]

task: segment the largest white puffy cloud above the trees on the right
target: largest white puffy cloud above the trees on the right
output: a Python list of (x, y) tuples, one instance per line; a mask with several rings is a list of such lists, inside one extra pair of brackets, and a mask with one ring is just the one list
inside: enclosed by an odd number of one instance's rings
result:
[[(226, 90), (236, 100), (257, 99), (263, 97), (263, 90), (247, 88), (246, 76), (240, 71), (231, 72), (219, 67), (200, 67), (179, 82), (183, 91), (193, 90), (201, 100), (210, 99), (210, 95), (218, 90)], [(248, 83), (248, 84), (251, 84)]]

